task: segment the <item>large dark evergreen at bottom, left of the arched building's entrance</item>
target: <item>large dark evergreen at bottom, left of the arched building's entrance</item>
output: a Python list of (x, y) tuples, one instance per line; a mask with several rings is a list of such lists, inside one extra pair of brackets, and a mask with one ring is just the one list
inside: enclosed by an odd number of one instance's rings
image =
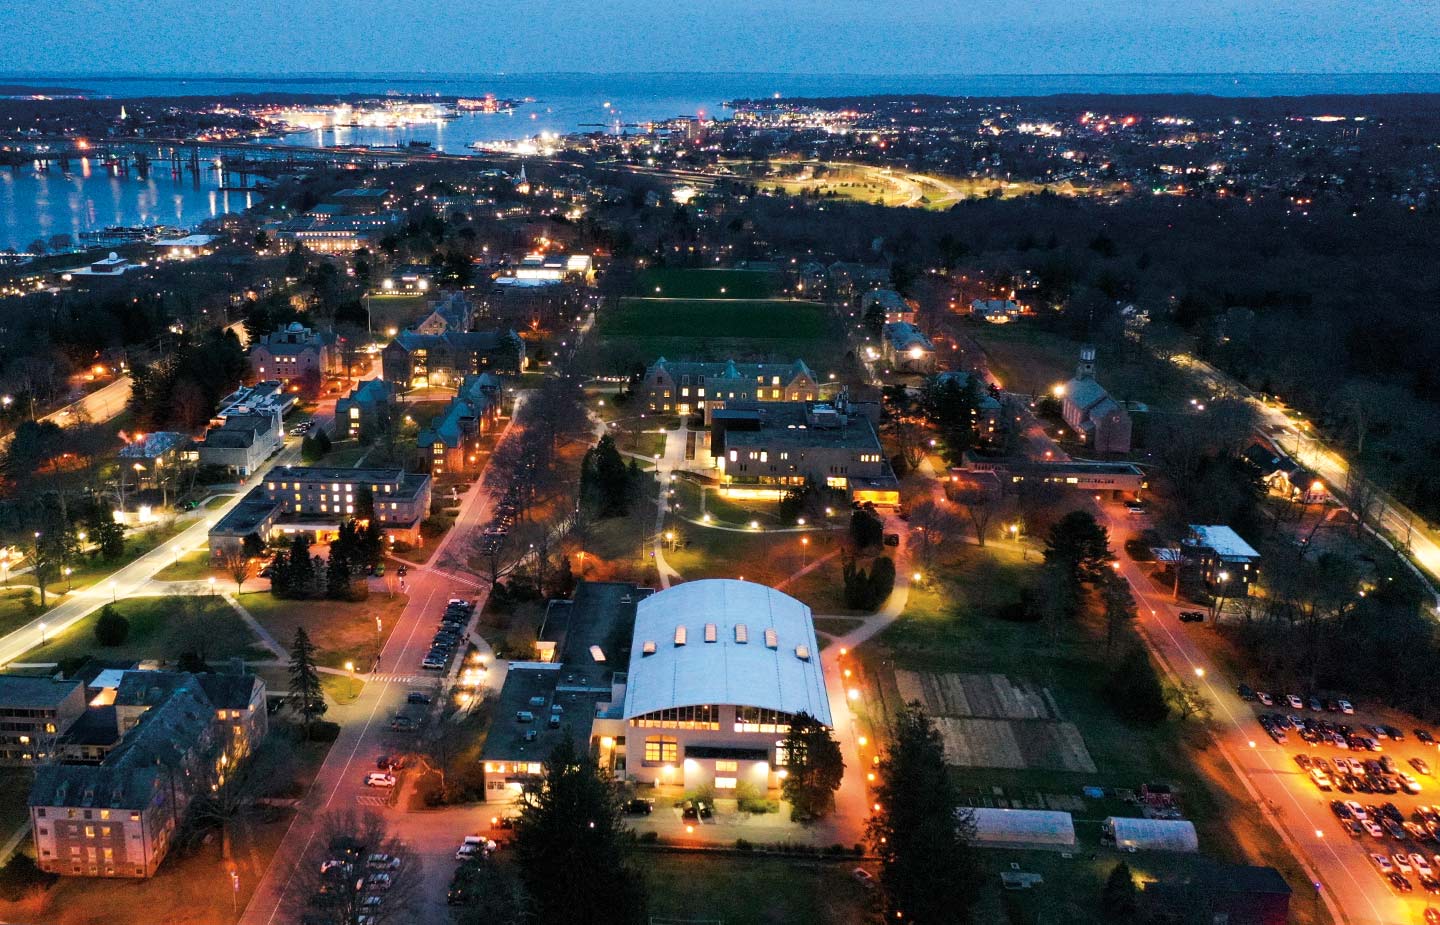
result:
[(628, 859), (619, 797), (569, 736), (550, 752), (516, 820), (514, 857), (539, 922), (645, 921), (645, 885)]

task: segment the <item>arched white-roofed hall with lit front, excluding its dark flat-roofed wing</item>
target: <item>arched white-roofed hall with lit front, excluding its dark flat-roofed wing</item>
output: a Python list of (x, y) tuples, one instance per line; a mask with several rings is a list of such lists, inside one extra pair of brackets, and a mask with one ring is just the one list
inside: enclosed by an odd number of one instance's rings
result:
[(733, 579), (684, 582), (636, 604), (615, 735), (626, 779), (713, 787), (721, 798), (742, 782), (779, 787), (799, 713), (831, 725), (805, 604)]

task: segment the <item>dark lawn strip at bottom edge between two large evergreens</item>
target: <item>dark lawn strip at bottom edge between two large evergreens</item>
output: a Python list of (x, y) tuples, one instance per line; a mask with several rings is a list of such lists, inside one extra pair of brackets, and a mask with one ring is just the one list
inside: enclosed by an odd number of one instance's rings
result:
[(645, 853), (649, 913), (724, 925), (852, 925), (878, 921), (873, 895), (850, 876), (851, 862), (793, 857), (711, 857)]

